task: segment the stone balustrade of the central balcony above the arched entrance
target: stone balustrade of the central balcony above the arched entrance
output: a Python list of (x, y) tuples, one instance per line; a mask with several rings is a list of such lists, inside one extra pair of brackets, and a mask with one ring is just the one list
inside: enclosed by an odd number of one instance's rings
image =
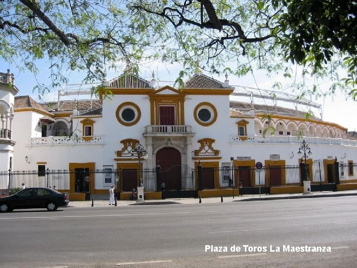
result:
[(144, 135), (194, 135), (188, 125), (149, 125), (145, 127)]

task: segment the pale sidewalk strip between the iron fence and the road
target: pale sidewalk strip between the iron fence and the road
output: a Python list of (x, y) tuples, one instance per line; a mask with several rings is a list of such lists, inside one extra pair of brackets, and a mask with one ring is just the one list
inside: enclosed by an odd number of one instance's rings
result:
[[(319, 198), (319, 197), (342, 197), (342, 196), (357, 196), (357, 190), (341, 191), (341, 192), (313, 192), (311, 195), (302, 194), (284, 194), (284, 195), (244, 195), (233, 197), (223, 197), (223, 202), (234, 201), (258, 201), (258, 200), (278, 200), (278, 199), (300, 199), (300, 198)], [(220, 197), (202, 198), (202, 203), (219, 203)], [(182, 198), (182, 199), (165, 199), (165, 200), (146, 200), (144, 202), (136, 202), (129, 200), (118, 200), (117, 206), (125, 205), (157, 205), (157, 204), (196, 204), (199, 203), (198, 198)], [(69, 207), (90, 207), (92, 201), (70, 201)], [(93, 206), (109, 206), (108, 200), (93, 200)]]

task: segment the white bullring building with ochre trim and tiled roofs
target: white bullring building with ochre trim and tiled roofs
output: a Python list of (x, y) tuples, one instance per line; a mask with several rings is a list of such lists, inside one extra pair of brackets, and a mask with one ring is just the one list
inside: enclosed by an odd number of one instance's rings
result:
[[(75, 171), (68, 175), (63, 191), (106, 194), (120, 181), (120, 190), (128, 192), (140, 183), (140, 172), (158, 165), (161, 170), (180, 167), (174, 172), (179, 176), (165, 178), (166, 188), (172, 191), (197, 189), (196, 175), (185, 177), (182, 167), (195, 170), (198, 165), (209, 178), (204, 183), (207, 189), (238, 186), (238, 180), (255, 186), (255, 174), (244, 168), (257, 162), (298, 165), (305, 161), (297, 153), (303, 141), (312, 151), (306, 159), (311, 180), (327, 181), (328, 166), (336, 161), (348, 165), (357, 160), (357, 140), (346, 138), (347, 129), (314, 117), (306, 119), (292, 109), (232, 101), (234, 88), (227, 80), (220, 82), (201, 73), (180, 89), (157, 87), (154, 79), (122, 74), (109, 81), (109, 98), (101, 92), (98, 100), (43, 104), (29, 96), (14, 97), (17, 89), (8, 89), (8, 76), (1, 79), (0, 170), (37, 170), (42, 175), (47, 169)], [(5, 131), (11, 131), (11, 138), (5, 137)], [(137, 145), (147, 158), (139, 159)], [(313, 174), (317, 159), (324, 165), (322, 179), (321, 172), (320, 178)], [(241, 168), (230, 176), (238, 179), (229, 182), (222, 172), (214, 171), (224, 167)], [(117, 172), (108, 176), (90, 172), (96, 169)], [(128, 173), (119, 176), (118, 170)], [(139, 174), (129, 173), (135, 170)], [(90, 185), (75, 175), (81, 172)], [(274, 176), (276, 185), (288, 183), (284, 172)], [(57, 185), (63, 178), (57, 177)], [(145, 182), (144, 178), (144, 186)], [(146, 188), (157, 191), (153, 186)]]

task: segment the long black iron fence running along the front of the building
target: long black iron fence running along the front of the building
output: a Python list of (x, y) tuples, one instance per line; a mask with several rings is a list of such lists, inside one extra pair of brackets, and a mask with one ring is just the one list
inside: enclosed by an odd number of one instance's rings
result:
[[(198, 190), (241, 189), (242, 193), (269, 192), (270, 187), (301, 186), (304, 176), (311, 181), (312, 191), (322, 185), (357, 183), (357, 163), (331, 163), (315, 160), (311, 165), (202, 167), (185, 165), (162, 170), (149, 169), (76, 169), (0, 171), (0, 195), (13, 188), (51, 187), (62, 192), (83, 193), (94, 189), (132, 192), (142, 183), (145, 192), (192, 192)], [(316, 188), (315, 186), (320, 186)], [(316, 190), (314, 190), (314, 187)], [(250, 189), (250, 190), (249, 190)]]

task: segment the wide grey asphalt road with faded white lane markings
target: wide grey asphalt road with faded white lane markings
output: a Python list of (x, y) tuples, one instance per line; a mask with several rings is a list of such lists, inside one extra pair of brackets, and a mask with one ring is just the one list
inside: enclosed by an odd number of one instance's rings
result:
[(356, 196), (15, 210), (0, 214), (0, 267), (352, 268), (356, 211)]

